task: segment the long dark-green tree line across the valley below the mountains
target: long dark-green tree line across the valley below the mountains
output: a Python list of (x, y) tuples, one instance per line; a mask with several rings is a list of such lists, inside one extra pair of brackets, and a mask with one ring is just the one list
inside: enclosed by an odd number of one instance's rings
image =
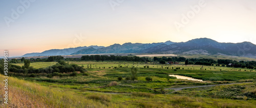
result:
[[(256, 67), (255, 61), (235, 61), (229, 59), (219, 59), (217, 61), (213, 59), (186, 59), (184, 57), (154, 57), (153, 60), (151, 58), (146, 57), (137, 57), (137, 56), (104, 56), (104, 55), (87, 55), (82, 56), (81, 58), (63, 58), (62, 56), (50, 56), (44, 59), (28, 59), (30, 62), (57, 62), (59, 60), (65, 61), (133, 61), (133, 62), (159, 62), (159, 64), (166, 64), (168, 61), (172, 62), (185, 62), (185, 65), (205, 65), (205, 66), (227, 66), (227, 67), (241, 67), (241, 68), (249, 68), (254, 69)], [(25, 63), (26, 59), (12, 59), (10, 63)]]

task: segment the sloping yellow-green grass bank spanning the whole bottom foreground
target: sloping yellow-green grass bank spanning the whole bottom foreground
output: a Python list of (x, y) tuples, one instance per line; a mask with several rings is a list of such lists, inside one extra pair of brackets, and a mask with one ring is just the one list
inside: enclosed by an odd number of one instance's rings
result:
[[(3, 80), (3, 75), (0, 75)], [(1, 107), (256, 107), (255, 100), (232, 100), (150, 93), (102, 94), (40, 86), (9, 77), (9, 104)], [(3, 96), (3, 82), (0, 83)]]

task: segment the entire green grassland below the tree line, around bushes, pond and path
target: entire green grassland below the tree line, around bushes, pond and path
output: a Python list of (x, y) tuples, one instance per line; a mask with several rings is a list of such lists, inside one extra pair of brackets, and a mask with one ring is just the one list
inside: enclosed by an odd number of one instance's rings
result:
[[(70, 61), (69, 63), (84, 66), (88, 75), (78, 72), (77, 76), (46, 77), (36, 74), (35, 77), (10, 77), (10, 97), (12, 97), (10, 105), (16, 107), (256, 107), (255, 69), (156, 65), (140, 62)], [(42, 68), (54, 64), (56, 62), (36, 62), (31, 63), (31, 66)], [(125, 80), (126, 77), (131, 76), (132, 66), (138, 67), (138, 79)], [(176, 69), (178, 67), (180, 69)], [(202, 79), (204, 82), (175, 77), (168, 79), (168, 74), (189, 76)], [(152, 81), (146, 81), (145, 78), (148, 76)], [(118, 77), (122, 77), (122, 80), (118, 80)], [(3, 76), (1, 78), (3, 79)], [(184, 89), (171, 94), (168, 93), (174, 90), (165, 90), (228, 83), (244, 84)], [(3, 86), (4, 83), (1, 83), (1, 96), (4, 92)], [(17, 101), (19, 99), (22, 101)]]

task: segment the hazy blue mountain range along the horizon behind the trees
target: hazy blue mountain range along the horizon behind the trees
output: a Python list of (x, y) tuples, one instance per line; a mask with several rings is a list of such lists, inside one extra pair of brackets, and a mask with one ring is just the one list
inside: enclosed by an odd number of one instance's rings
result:
[(83, 55), (99, 53), (174, 53), (174, 54), (202, 54), (202, 55), (230, 55), (256, 58), (256, 45), (251, 42), (220, 43), (208, 38), (199, 38), (187, 42), (160, 43), (124, 43), (104, 46), (83, 46), (66, 49), (51, 49), (41, 53), (27, 53), (23, 57)]

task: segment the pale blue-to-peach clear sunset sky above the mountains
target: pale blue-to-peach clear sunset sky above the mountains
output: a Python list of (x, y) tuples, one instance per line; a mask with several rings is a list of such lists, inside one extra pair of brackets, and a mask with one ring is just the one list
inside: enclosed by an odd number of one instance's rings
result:
[(22, 56), (196, 38), (256, 44), (255, 5), (255, 0), (0, 0), (0, 51)]

